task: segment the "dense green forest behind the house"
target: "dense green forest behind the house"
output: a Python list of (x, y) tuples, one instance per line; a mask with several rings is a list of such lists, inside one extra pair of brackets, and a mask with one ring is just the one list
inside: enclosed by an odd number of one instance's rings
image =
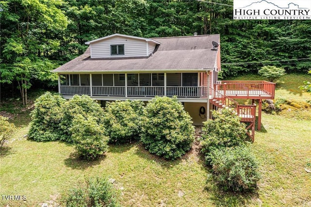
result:
[(263, 65), (301, 73), (311, 68), (311, 20), (233, 20), (232, 5), (233, 0), (0, 1), (1, 94), (57, 85), (52, 69), (83, 53), (86, 41), (114, 33), (220, 34), (224, 78), (256, 73)]

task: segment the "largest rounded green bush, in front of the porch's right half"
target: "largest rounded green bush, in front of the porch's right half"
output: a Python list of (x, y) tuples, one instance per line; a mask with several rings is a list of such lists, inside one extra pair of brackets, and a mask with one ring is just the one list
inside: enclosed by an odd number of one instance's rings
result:
[(185, 155), (194, 141), (189, 114), (177, 98), (155, 97), (144, 109), (141, 141), (155, 155), (174, 160)]

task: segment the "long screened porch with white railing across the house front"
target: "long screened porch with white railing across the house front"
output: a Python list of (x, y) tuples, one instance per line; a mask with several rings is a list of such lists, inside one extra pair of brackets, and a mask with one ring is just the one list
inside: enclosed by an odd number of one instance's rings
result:
[(62, 95), (92, 97), (207, 97), (200, 73), (60, 74)]

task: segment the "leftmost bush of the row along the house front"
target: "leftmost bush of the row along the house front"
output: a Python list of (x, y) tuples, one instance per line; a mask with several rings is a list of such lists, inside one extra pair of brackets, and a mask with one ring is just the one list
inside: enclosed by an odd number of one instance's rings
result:
[(64, 117), (63, 106), (66, 102), (59, 94), (46, 92), (35, 100), (32, 111), (29, 138), (35, 141), (52, 141), (60, 139), (60, 123)]

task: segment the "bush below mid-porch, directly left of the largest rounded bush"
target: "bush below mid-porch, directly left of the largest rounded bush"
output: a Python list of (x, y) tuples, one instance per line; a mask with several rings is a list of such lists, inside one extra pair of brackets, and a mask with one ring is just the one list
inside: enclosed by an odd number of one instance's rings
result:
[(139, 139), (143, 102), (110, 102), (106, 105), (105, 111), (104, 123), (110, 142), (125, 143)]

